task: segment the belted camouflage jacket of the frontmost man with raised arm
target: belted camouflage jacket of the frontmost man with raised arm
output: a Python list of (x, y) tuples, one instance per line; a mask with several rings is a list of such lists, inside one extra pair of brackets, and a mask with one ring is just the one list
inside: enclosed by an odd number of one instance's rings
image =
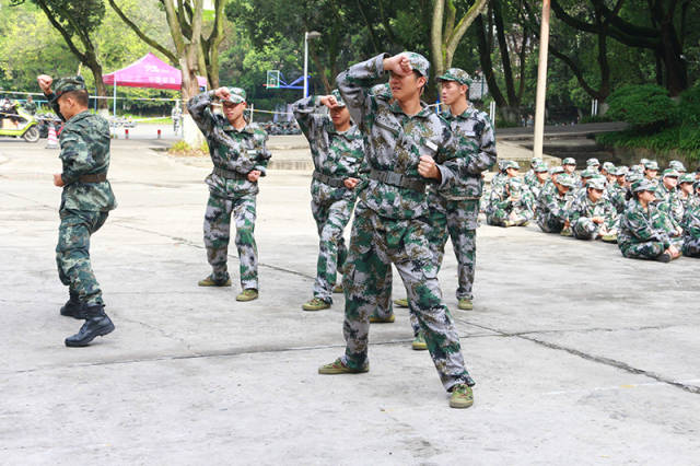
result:
[[(447, 123), (424, 104), (420, 112), (409, 116), (398, 103), (371, 93), (372, 84), (384, 74), (383, 60), (387, 57), (383, 54), (353, 65), (336, 78), (350, 116), (365, 137), (366, 164), (371, 170), (394, 172), (407, 179), (435, 183), (418, 174), (420, 156), (430, 155), (438, 162), (440, 186), (448, 186), (466, 159), (458, 160), (458, 148)], [(371, 210), (389, 219), (425, 217), (429, 209), (425, 191), (371, 177), (359, 198)]]

